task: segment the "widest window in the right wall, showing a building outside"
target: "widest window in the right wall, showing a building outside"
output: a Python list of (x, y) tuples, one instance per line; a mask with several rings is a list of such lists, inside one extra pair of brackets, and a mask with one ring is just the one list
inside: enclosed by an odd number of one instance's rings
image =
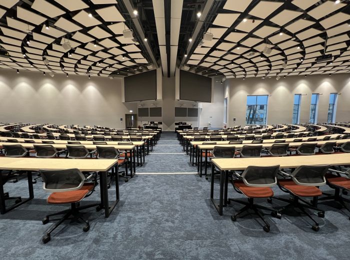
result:
[(247, 96), (246, 97), (246, 116), (247, 125), (266, 124), (267, 117), (267, 95)]

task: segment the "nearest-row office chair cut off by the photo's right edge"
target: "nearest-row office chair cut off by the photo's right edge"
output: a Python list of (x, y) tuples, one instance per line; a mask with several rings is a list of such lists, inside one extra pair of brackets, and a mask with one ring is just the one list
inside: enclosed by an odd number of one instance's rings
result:
[[(318, 200), (333, 199), (338, 202), (342, 208), (345, 208), (348, 212), (350, 212), (349, 207), (345, 203), (350, 203), (350, 200), (342, 197), (340, 194), (340, 190), (343, 194), (347, 194), (347, 192), (350, 191), (350, 179), (348, 178), (350, 169), (345, 172), (334, 169), (328, 169), (328, 171), (330, 173), (325, 174), (326, 183), (330, 188), (334, 189), (334, 194), (322, 192), (322, 194), (325, 196), (318, 198)], [(346, 175), (346, 177), (341, 176), (341, 174)], [(350, 216), (348, 216), (348, 218), (350, 220)]]

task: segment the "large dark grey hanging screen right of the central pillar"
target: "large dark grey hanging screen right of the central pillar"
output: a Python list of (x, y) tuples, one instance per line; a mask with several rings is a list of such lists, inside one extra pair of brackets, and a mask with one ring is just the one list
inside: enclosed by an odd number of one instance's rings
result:
[(211, 102), (211, 78), (180, 70), (180, 99)]

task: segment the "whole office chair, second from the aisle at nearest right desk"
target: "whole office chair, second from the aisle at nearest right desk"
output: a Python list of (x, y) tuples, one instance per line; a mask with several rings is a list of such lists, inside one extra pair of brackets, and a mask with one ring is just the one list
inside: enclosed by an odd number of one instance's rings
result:
[[(322, 195), (322, 192), (318, 186), (326, 184), (324, 175), (328, 171), (328, 167), (329, 165), (301, 165), (291, 174), (279, 171), (280, 174), (286, 176), (287, 178), (279, 179), (277, 185), (282, 191), (289, 193), (291, 198), (284, 199), (280, 197), (273, 197), (288, 203), (280, 211), (283, 211), (286, 207), (298, 208), (302, 213), (309, 217), (314, 222), (314, 224), (311, 226), (312, 230), (314, 231), (319, 230), (319, 225), (316, 220), (314, 220), (305, 210), (305, 208), (316, 210), (318, 211), (317, 215), (319, 217), (324, 217), (324, 211), (317, 208), (316, 203), (317, 198)], [(312, 204), (303, 199), (304, 197), (313, 197)], [(271, 203), (272, 196), (268, 198), (267, 201)]]

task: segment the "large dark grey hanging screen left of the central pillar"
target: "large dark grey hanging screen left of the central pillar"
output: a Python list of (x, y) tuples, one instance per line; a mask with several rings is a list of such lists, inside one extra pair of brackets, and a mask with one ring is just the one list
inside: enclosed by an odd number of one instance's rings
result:
[(156, 87), (156, 70), (125, 77), (125, 102), (157, 99)]

